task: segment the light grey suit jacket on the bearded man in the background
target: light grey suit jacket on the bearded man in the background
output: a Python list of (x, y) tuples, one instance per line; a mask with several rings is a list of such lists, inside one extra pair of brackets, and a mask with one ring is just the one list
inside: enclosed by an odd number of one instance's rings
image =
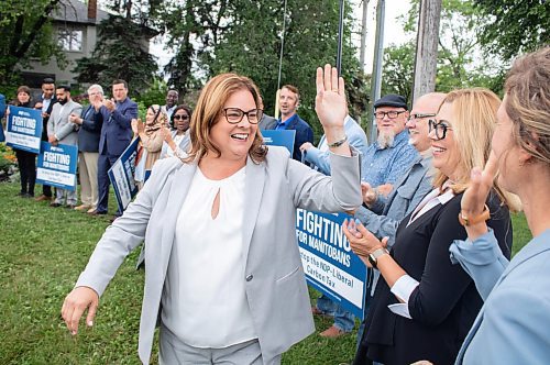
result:
[(78, 124), (72, 123), (68, 118), (72, 113), (80, 115), (82, 106), (78, 102), (69, 100), (62, 106), (56, 102), (52, 108), (52, 114), (47, 121), (47, 135), (57, 135), (61, 144), (78, 144)]

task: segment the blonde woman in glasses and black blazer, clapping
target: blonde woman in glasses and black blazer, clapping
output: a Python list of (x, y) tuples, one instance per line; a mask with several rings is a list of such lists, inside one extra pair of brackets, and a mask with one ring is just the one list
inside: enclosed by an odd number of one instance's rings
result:
[[(392, 251), (363, 225), (344, 232), (369, 266), (381, 270), (366, 330), (355, 364), (410, 364), (428, 360), (451, 364), (468, 334), (482, 299), (470, 276), (449, 259), (449, 246), (466, 232), (459, 223), (460, 200), (473, 166), (488, 158), (495, 114), (501, 101), (486, 89), (449, 93), (430, 120), (435, 190), (406, 217)], [(496, 187), (487, 199), (501, 250), (509, 257), (512, 225), (506, 196)]]

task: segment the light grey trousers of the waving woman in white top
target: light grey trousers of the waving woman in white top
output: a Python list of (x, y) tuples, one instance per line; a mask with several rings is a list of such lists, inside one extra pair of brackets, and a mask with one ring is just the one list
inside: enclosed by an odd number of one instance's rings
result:
[[(174, 333), (161, 325), (160, 365), (264, 365), (257, 340), (251, 340), (224, 349), (199, 349), (182, 342)], [(272, 362), (280, 364), (280, 356)]]

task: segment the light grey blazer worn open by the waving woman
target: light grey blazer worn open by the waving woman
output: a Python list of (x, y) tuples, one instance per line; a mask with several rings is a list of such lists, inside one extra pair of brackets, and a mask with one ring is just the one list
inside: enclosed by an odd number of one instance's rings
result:
[[(243, 220), (246, 298), (265, 364), (314, 332), (314, 320), (296, 243), (296, 208), (338, 212), (361, 204), (360, 162), (332, 155), (333, 176), (323, 176), (289, 158), (284, 147), (270, 146), (266, 159), (245, 167)], [(124, 257), (145, 239), (145, 288), (139, 354), (151, 356), (166, 269), (178, 212), (197, 164), (158, 161), (124, 212), (99, 241), (77, 286), (100, 296)]]

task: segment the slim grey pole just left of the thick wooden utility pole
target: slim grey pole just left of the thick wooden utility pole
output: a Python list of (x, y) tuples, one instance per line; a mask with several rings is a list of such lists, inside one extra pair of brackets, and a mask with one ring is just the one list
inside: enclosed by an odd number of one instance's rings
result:
[(384, 18), (386, 1), (378, 0), (376, 5), (376, 41), (374, 45), (374, 64), (371, 81), (371, 102), (369, 103), (369, 118), (371, 123), (370, 142), (376, 141), (376, 119), (374, 118), (374, 102), (380, 99), (382, 89), (382, 57), (384, 56)]

